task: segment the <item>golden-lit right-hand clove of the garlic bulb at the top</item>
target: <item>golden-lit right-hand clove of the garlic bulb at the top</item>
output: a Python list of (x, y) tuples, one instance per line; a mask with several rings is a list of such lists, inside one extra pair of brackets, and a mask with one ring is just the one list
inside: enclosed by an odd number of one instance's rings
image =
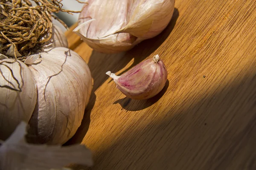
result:
[(127, 25), (116, 33), (129, 33), (140, 39), (149, 39), (163, 31), (172, 19), (175, 0), (135, 1)]

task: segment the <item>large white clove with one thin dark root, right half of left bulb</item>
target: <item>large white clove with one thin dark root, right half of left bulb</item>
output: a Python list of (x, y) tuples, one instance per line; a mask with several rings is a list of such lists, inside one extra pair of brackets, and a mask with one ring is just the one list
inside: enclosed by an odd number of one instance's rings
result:
[(29, 140), (63, 144), (81, 125), (92, 91), (84, 60), (67, 48), (41, 53), (40, 64), (29, 66), (38, 86), (38, 102), (29, 122)]

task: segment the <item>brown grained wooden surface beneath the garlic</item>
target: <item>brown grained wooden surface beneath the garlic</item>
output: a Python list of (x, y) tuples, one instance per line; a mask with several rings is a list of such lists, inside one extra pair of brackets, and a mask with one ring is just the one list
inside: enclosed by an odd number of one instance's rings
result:
[[(94, 79), (68, 142), (92, 150), (90, 170), (256, 170), (256, 0), (176, 0), (160, 35), (121, 54), (66, 35)], [(105, 74), (155, 54), (169, 74), (152, 99), (128, 99)]]

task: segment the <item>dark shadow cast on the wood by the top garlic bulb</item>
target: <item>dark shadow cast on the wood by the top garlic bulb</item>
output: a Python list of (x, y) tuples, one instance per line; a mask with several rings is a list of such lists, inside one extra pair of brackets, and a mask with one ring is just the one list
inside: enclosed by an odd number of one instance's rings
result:
[(99, 88), (108, 79), (108, 76), (105, 75), (107, 71), (111, 71), (113, 73), (120, 71), (122, 68), (125, 68), (132, 59), (134, 59), (134, 62), (120, 73), (122, 74), (154, 53), (154, 51), (156, 51), (157, 48), (159, 48), (159, 46), (169, 37), (169, 34), (175, 27), (178, 17), (179, 11), (175, 8), (172, 20), (159, 35), (140, 42), (130, 51), (117, 54), (103, 54), (98, 51), (93, 51), (90, 56), (88, 66), (94, 79), (94, 90)]

